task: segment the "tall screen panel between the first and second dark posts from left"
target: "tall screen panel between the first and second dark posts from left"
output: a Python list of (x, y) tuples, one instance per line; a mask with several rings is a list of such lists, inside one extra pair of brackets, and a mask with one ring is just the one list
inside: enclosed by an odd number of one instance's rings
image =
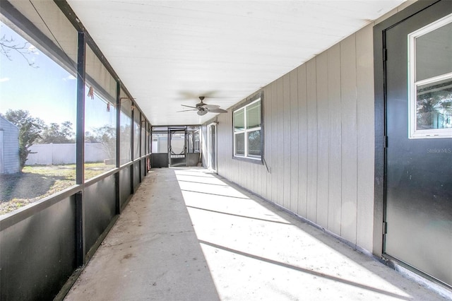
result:
[(116, 82), (86, 49), (85, 180), (116, 167)]

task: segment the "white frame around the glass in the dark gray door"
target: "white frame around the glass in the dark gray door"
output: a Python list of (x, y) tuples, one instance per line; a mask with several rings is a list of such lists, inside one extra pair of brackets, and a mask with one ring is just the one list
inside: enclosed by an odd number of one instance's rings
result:
[(439, 76), (416, 78), (416, 39), (452, 23), (452, 14), (415, 30), (408, 35), (408, 138), (452, 138), (452, 129), (417, 129), (417, 87), (452, 78), (452, 72)]

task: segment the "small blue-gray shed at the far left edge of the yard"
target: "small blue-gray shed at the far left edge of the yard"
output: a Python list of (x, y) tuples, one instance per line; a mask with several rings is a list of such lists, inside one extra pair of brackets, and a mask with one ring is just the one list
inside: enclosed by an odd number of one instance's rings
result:
[(0, 175), (20, 172), (19, 129), (0, 115)]

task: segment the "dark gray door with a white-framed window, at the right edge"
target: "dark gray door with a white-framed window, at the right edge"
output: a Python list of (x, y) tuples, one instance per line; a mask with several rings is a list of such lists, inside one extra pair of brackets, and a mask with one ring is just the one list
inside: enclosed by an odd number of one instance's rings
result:
[[(386, 31), (383, 252), (452, 285), (452, 1)], [(446, 17), (446, 18), (445, 18)], [(435, 23), (442, 20), (443, 23)], [(446, 20), (446, 21), (444, 21)]]

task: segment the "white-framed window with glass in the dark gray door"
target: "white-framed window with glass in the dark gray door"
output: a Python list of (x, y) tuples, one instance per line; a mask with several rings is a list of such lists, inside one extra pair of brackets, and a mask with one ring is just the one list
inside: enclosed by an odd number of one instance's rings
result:
[(408, 35), (410, 138), (452, 137), (452, 15)]

